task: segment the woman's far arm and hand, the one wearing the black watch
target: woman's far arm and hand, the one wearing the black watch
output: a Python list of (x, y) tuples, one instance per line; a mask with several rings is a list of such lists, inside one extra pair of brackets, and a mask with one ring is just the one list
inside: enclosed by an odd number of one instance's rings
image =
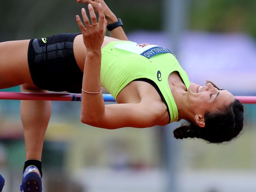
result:
[[(93, 9), (96, 13), (98, 13), (98, 4), (100, 3), (103, 7), (103, 12), (105, 15), (105, 19), (107, 20), (107, 24), (111, 24), (114, 22), (117, 22), (118, 19), (116, 15), (109, 9), (107, 4), (104, 2), (104, 0), (77, 0), (78, 3), (84, 3), (84, 4), (91, 4), (93, 6)], [(109, 32), (110, 37), (114, 37), (116, 39), (129, 41), (127, 36), (125, 35), (125, 32), (123, 31), (123, 28), (121, 26), (115, 28), (114, 30)]]

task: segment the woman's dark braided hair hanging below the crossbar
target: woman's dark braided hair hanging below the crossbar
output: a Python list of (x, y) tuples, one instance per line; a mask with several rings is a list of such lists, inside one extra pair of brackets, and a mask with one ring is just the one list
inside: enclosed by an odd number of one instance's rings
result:
[(200, 128), (190, 123), (182, 125), (174, 130), (176, 139), (202, 138), (209, 143), (228, 142), (239, 135), (243, 129), (243, 105), (235, 99), (229, 106), (225, 106), (222, 112), (204, 115), (205, 127)]

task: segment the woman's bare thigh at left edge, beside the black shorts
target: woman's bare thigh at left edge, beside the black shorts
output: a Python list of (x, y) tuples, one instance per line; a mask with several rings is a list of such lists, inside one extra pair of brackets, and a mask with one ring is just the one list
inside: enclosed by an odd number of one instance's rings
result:
[(32, 84), (28, 67), (30, 40), (0, 43), (0, 89), (24, 83)]

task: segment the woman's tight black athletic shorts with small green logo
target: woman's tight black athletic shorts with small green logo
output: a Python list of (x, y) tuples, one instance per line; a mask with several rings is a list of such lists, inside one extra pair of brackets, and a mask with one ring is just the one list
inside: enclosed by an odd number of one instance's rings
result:
[(81, 93), (83, 73), (73, 52), (73, 41), (79, 34), (57, 34), (30, 40), (28, 65), (38, 88)]

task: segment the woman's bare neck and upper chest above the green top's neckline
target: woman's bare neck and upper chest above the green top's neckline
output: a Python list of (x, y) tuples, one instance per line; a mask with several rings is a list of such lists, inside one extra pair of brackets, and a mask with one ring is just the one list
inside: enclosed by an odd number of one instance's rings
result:
[(189, 105), (187, 103), (187, 88), (183, 81), (175, 81), (173, 79), (168, 79), (174, 101), (178, 108), (179, 119), (185, 119), (187, 121), (192, 121), (194, 114), (189, 110)]

